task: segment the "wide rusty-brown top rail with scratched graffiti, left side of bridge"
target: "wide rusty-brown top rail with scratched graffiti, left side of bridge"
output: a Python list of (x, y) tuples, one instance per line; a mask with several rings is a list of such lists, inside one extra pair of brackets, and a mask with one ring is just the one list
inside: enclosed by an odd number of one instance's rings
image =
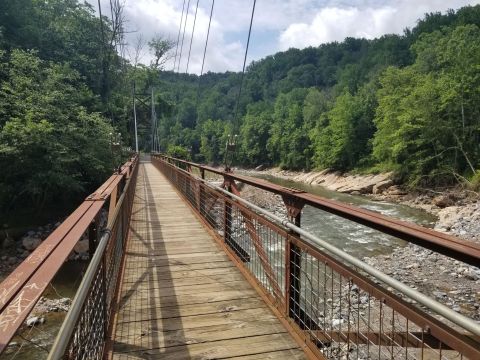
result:
[[(132, 157), (89, 195), (68, 218), (45, 239), (0, 284), (0, 354), (30, 314), (48, 284), (67, 260), (77, 242), (88, 232), (91, 254), (100, 235), (101, 210), (107, 204), (110, 220), (124, 185), (137, 168)], [(123, 196), (123, 194), (121, 195)]]

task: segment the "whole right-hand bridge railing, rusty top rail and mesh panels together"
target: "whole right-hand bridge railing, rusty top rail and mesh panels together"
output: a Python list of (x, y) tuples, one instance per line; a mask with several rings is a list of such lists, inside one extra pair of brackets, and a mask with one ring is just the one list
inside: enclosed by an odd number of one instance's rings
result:
[[(188, 171), (196, 166), (203, 177), (211, 168), (163, 156), (152, 161), (311, 354), (328, 359), (480, 359), (478, 323), (456, 316), (450, 309), (443, 311), (443, 305), (296, 226), (300, 222), (296, 195), (310, 203), (322, 200), (322, 208), (334, 213), (348, 211), (340, 204), (333, 206), (323, 199), (260, 182), (263, 189), (274, 188), (287, 199), (292, 220), (287, 222), (238, 197), (234, 180), (255, 185), (255, 179), (213, 169), (224, 177), (219, 188)], [(367, 222), (373, 215), (355, 210), (343, 213), (344, 217), (388, 234), (408, 234), (414, 243), (443, 246), (451, 241), (442, 249), (456, 258), (465, 251), (463, 245), (470, 246), (431, 230), (417, 233), (416, 227), (403, 222), (399, 223), (405, 228), (394, 228), (397, 221), (386, 217)], [(468, 262), (478, 266), (480, 257), (476, 262), (472, 259), (478, 247), (472, 249)]]

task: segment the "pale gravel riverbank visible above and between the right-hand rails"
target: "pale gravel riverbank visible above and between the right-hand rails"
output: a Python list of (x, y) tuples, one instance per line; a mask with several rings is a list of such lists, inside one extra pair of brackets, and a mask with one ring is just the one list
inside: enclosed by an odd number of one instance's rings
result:
[[(242, 196), (278, 216), (287, 216), (283, 201), (278, 195), (245, 186)], [(409, 201), (415, 201), (411, 194), (402, 196), (409, 196)], [(424, 195), (418, 203), (430, 202), (434, 209), (432, 212), (438, 215), (436, 230), (468, 241), (480, 242), (480, 202), (476, 202), (472, 197), (463, 198), (462, 202), (457, 201), (453, 206), (441, 208), (435, 204), (434, 199), (435, 197)], [(383, 200), (386, 200), (386, 196)], [(363, 260), (453, 310), (480, 320), (479, 268), (413, 244), (397, 246), (391, 254), (366, 257)]]

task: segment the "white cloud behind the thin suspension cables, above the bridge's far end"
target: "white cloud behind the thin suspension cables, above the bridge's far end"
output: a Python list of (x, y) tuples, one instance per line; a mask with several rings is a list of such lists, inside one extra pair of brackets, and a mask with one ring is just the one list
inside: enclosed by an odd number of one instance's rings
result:
[[(90, 0), (92, 5), (97, 8), (96, 2)], [(188, 2), (188, 0), (187, 0)], [(189, 73), (200, 73), (205, 39), (207, 36), (208, 21), (210, 16), (210, 4), (203, 1), (203, 6), (199, 6), (197, 19), (195, 22), (195, 32), (192, 41), (192, 50), (188, 66)], [(108, 15), (109, 0), (102, 0), (102, 10), (104, 15)], [(183, 48), (181, 49), (181, 41), (183, 37), (183, 27), (181, 29), (180, 40), (178, 45), (178, 59), (180, 59), (180, 72), (185, 72), (187, 66), (188, 52), (190, 47), (190, 39), (192, 36), (192, 28), (195, 15), (196, 1), (190, 1), (190, 8), (187, 17)], [(186, 5), (185, 5), (186, 7)], [(218, 11), (218, 10), (217, 10)], [(217, 16), (216, 16), (217, 15)], [(182, 1), (174, 0), (136, 0), (126, 1), (124, 7), (124, 16), (128, 21), (127, 24), (127, 52), (134, 53), (133, 47), (137, 42), (138, 36), (141, 34), (145, 41), (150, 40), (155, 34), (160, 34), (171, 40), (177, 41), (180, 18), (182, 16)], [(205, 60), (206, 71), (226, 71), (238, 70), (242, 64), (242, 54), (244, 45), (238, 41), (226, 41), (226, 33), (229, 29), (225, 26), (222, 17), (215, 14), (212, 19), (210, 37)], [(185, 15), (183, 18), (185, 22)], [(175, 50), (173, 51), (175, 53)], [(142, 63), (150, 63), (152, 56), (149, 54), (148, 46), (144, 47)], [(173, 69), (174, 60), (167, 62), (166, 70)]]

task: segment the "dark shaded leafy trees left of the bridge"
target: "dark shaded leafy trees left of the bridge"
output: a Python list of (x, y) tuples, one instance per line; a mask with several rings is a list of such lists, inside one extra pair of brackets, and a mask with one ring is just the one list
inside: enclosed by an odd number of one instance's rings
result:
[(131, 100), (121, 34), (104, 21), (102, 35), (94, 9), (75, 0), (0, 1), (2, 224), (68, 209), (116, 166), (111, 133), (127, 136)]

